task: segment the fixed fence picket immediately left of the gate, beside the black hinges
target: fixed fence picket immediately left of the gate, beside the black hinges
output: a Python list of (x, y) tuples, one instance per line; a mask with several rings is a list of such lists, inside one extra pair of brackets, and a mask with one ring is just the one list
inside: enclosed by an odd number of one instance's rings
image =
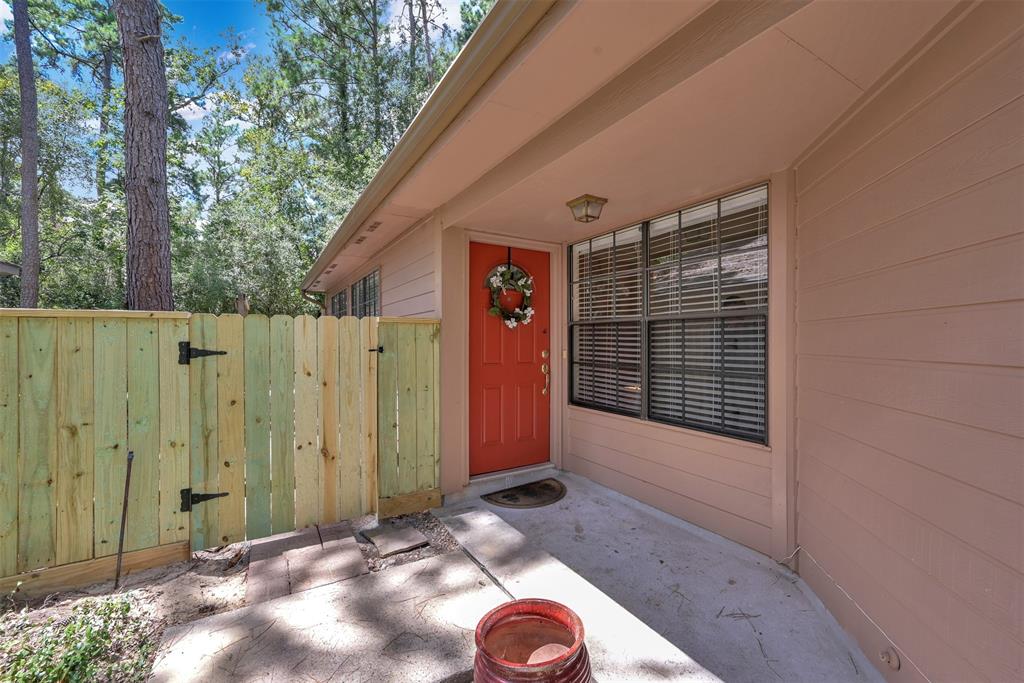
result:
[(178, 343), (188, 322), (160, 321), (160, 544), (188, 540), (188, 513), (180, 492), (188, 486), (188, 368), (178, 365)]

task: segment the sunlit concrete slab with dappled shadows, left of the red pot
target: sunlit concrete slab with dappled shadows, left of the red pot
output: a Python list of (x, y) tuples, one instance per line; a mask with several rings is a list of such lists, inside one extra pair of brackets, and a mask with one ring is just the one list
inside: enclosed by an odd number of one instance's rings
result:
[(449, 553), (169, 629), (152, 681), (439, 681), (506, 596)]

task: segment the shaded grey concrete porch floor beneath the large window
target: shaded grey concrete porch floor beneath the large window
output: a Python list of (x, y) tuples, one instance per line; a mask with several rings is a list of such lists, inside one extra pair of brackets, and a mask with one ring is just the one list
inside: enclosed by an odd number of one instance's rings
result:
[(884, 682), (785, 567), (584, 477), (557, 478), (568, 493), (553, 506), (446, 512), (500, 516), (723, 681)]

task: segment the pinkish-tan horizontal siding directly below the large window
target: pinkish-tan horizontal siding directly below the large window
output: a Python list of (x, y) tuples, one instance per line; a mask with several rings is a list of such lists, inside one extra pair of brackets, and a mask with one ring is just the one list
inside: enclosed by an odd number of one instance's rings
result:
[(565, 469), (770, 552), (770, 450), (572, 405), (566, 434)]

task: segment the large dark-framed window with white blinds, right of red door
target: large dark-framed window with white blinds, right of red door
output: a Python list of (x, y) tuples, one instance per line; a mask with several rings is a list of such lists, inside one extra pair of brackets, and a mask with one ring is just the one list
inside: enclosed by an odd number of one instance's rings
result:
[(571, 402), (764, 442), (768, 188), (569, 248)]

